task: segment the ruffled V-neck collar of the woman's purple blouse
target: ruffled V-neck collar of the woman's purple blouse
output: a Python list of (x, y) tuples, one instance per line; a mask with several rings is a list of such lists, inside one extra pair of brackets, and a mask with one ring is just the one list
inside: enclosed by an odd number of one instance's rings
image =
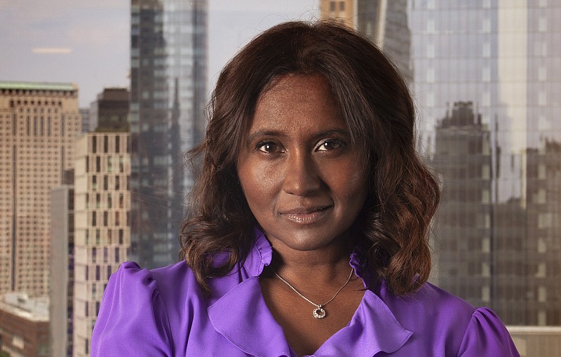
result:
[[(273, 249), (259, 229), (255, 244), (243, 264), (248, 273), (208, 307), (208, 316), (217, 332), (252, 356), (295, 356), (283, 329), (264, 301), (259, 275), (271, 264)], [(358, 276), (367, 276), (360, 250), (351, 255), (350, 264)], [(365, 284), (366, 285), (366, 284)], [(353, 314), (349, 325), (337, 331), (312, 356), (372, 357), (379, 351), (393, 353), (405, 344), (412, 332), (405, 330), (389, 307), (371, 290)]]

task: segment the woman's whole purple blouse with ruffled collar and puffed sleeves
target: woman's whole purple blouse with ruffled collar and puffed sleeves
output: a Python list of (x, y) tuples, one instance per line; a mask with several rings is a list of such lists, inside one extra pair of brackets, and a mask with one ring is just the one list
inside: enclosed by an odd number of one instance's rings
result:
[[(358, 255), (351, 255), (351, 267), (367, 281)], [(258, 231), (241, 269), (210, 279), (210, 297), (184, 262), (150, 271), (122, 264), (104, 292), (91, 356), (295, 357), (259, 285), (271, 256)], [(349, 325), (311, 356), (520, 355), (492, 310), (429, 283), (397, 297), (382, 282), (365, 291)]]

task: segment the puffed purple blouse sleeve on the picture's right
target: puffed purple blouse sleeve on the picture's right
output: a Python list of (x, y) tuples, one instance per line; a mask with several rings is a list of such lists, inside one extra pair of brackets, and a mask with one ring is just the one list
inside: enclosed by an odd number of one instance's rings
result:
[(482, 307), (471, 316), (458, 356), (520, 357), (520, 354), (499, 316)]

